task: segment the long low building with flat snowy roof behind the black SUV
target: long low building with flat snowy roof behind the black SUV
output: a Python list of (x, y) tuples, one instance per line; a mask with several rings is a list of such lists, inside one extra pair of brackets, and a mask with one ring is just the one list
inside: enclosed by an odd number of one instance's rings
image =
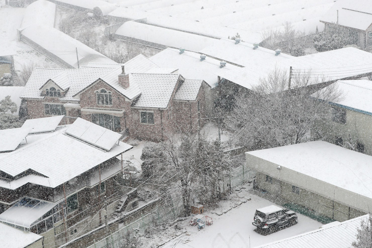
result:
[(372, 157), (314, 141), (246, 153), (255, 186), (345, 221), (372, 210)]

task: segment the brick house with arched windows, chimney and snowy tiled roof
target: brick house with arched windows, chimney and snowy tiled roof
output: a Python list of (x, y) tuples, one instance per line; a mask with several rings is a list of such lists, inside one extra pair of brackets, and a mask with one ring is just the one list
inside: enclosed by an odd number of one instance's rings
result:
[(27, 100), (30, 118), (81, 116), (132, 138), (158, 141), (173, 131), (198, 130), (209, 87), (203, 80), (185, 79), (177, 69), (159, 68), (139, 55), (123, 65), (37, 68), (21, 98)]

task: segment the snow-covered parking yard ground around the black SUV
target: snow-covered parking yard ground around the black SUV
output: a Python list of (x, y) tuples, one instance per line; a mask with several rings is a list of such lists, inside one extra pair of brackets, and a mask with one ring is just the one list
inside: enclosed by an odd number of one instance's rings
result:
[[(239, 199), (243, 199), (242, 197), (246, 199), (251, 198), (251, 200), (232, 208), (229, 212), (221, 216), (212, 213), (230, 208)], [(269, 235), (261, 235), (254, 231), (255, 227), (252, 225), (253, 215), (257, 208), (272, 205), (272, 202), (247, 192), (247, 189), (243, 189), (241, 192), (234, 193), (230, 200), (222, 201), (219, 204), (220, 207), (218, 209), (212, 211), (207, 209), (205, 212), (206, 215), (213, 218), (213, 225), (206, 226), (201, 231), (198, 231), (196, 227), (184, 222), (184, 230), (191, 233), (188, 236), (188, 239), (191, 241), (185, 244), (183, 242), (174, 244), (177, 242), (175, 239), (162, 246), (162, 248), (253, 248), (258, 245), (312, 231), (322, 225), (318, 221), (298, 214), (298, 224)]]

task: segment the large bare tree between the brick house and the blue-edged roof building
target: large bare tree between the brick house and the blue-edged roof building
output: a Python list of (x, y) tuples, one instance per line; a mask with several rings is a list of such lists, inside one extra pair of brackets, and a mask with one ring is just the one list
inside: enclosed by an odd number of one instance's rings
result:
[(330, 119), (328, 101), (340, 96), (334, 85), (319, 90), (310, 74), (289, 78), (274, 70), (248, 94), (237, 97), (226, 126), (234, 133), (233, 143), (250, 149), (265, 149), (319, 139), (318, 125)]

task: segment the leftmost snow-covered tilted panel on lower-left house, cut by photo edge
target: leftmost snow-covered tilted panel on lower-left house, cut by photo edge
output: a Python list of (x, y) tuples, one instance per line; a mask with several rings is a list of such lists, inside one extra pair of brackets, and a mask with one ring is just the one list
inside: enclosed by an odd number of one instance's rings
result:
[(21, 144), (30, 133), (29, 128), (0, 130), (0, 152), (11, 152)]

